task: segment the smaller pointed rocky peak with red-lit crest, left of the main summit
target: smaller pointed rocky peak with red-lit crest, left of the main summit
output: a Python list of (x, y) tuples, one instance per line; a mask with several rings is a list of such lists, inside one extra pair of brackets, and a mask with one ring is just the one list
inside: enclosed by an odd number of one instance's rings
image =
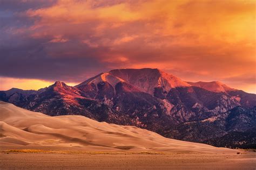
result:
[(84, 97), (83, 91), (59, 81), (47, 88), (39, 89), (36, 93), (25, 96), (24, 102), (15, 103), (19, 107), (43, 112), (50, 116), (83, 115), (98, 121), (120, 124), (132, 123), (126, 115), (111, 110), (104, 103)]

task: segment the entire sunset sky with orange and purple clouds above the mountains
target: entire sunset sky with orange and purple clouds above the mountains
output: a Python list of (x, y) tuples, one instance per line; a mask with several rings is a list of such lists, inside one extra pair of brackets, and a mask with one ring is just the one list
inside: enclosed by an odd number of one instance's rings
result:
[(256, 93), (254, 0), (0, 0), (0, 90), (118, 68)]

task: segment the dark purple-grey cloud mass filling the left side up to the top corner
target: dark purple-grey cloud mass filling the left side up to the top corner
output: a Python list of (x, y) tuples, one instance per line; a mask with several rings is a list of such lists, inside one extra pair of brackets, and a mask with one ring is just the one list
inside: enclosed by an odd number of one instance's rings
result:
[(79, 82), (106, 71), (104, 63), (96, 56), (107, 51), (97, 51), (83, 44), (77, 37), (65, 43), (51, 43), (51, 34), (31, 37), (31, 26), (35, 18), (29, 18), (24, 12), (40, 9), (56, 1), (0, 1), (0, 75), (29, 79), (62, 80)]

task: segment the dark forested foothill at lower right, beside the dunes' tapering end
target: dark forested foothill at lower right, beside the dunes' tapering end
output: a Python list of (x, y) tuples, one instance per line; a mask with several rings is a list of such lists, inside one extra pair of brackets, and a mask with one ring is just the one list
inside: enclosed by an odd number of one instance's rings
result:
[(203, 121), (179, 124), (165, 136), (214, 146), (256, 148), (255, 128), (256, 107), (239, 106)]

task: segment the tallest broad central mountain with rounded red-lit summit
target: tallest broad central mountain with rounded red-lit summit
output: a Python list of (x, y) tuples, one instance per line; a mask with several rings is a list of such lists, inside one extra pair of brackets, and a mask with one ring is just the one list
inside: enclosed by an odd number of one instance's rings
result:
[[(118, 88), (120, 86), (123, 88)], [(174, 117), (176, 123), (204, 119), (240, 105), (235, 97), (191, 86), (159, 69), (115, 69), (99, 74), (76, 87), (86, 97), (109, 103), (110, 107), (129, 112), (129, 115), (152, 112), (152, 108), (156, 108), (158, 111), (154, 115), (169, 115), (169, 119)], [(116, 88), (119, 89), (118, 93)], [(126, 96), (131, 100), (120, 102)], [(143, 106), (136, 105), (137, 109), (132, 109), (131, 106), (138, 100), (144, 101)]]

